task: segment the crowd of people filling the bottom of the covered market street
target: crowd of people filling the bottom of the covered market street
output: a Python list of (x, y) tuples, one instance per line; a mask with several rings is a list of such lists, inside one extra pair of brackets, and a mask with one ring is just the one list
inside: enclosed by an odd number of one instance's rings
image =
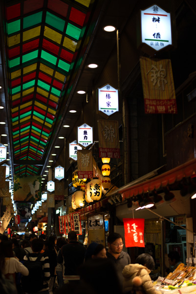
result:
[(151, 255), (131, 264), (118, 233), (108, 236), (108, 250), (91, 243), (86, 248), (70, 231), (67, 240), (43, 234), (24, 234), (8, 240), (0, 235), (1, 294), (159, 294), (153, 287)]

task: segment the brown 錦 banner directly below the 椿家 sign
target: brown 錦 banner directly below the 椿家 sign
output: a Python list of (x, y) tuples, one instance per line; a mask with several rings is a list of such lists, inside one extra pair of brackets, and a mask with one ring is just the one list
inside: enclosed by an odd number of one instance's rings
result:
[(99, 157), (120, 158), (117, 121), (98, 121)]

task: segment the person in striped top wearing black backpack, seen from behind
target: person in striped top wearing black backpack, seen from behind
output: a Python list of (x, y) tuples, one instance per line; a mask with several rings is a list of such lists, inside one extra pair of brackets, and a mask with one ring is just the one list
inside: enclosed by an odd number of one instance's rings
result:
[(26, 294), (48, 294), (50, 280), (49, 259), (44, 253), (44, 241), (33, 239), (31, 248), (33, 253), (24, 256), (24, 265), (29, 270), (28, 277), (22, 277), (22, 289)]

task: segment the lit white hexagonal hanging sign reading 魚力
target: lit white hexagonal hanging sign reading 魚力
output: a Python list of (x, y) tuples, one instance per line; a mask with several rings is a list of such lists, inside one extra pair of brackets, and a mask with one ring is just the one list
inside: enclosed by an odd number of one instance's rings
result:
[(87, 147), (88, 145), (93, 143), (93, 134), (92, 127), (87, 125), (87, 123), (78, 126), (78, 143)]

